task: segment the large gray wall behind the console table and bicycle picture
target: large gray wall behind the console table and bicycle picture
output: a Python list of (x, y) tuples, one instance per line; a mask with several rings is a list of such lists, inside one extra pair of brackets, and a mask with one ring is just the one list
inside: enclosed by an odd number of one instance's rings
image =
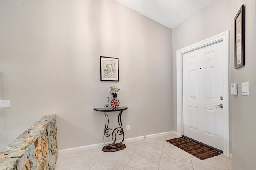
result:
[[(126, 138), (173, 130), (170, 28), (114, 0), (1, 0), (0, 26), (0, 99), (12, 105), (0, 148), (45, 114), (57, 115), (59, 149), (102, 143), (93, 108), (114, 85)], [(119, 58), (119, 82), (100, 81), (100, 56)]]

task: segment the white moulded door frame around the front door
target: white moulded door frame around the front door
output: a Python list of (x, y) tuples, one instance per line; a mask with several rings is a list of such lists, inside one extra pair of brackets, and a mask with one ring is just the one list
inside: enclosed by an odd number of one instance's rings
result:
[(182, 98), (182, 55), (186, 52), (214, 44), (215, 42), (223, 41), (224, 45), (224, 95), (223, 95), (223, 109), (225, 112), (224, 116), (224, 126), (223, 126), (223, 154), (229, 157), (229, 102), (228, 102), (228, 92), (229, 92), (229, 82), (228, 82), (228, 59), (229, 59), (229, 31), (222, 32), (216, 36), (212, 36), (190, 46), (184, 47), (177, 50), (176, 53), (176, 71), (177, 71), (177, 134), (178, 136), (183, 135), (183, 98)]

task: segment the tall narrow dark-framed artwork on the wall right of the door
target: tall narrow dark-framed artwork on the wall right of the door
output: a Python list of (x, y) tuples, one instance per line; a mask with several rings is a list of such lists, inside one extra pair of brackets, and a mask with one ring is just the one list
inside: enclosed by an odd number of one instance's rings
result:
[(241, 6), (234, 18), (235, 69), (245, 64), (245, 7)]

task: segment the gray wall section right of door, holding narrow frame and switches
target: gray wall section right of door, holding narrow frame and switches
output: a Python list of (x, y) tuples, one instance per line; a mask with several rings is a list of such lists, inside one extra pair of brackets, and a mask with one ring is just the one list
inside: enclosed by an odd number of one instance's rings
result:
[[(232, 154), (234, 170), (255, 170), (256, 160), (256, 60), (255, 60), (255, 1), (233, 0), (232, 16), (245, 4), (245, 66), (234, 69), (234, 46), (230, 48), (230, 83), (238, 84), (238, 95), (230, 95), (232, 116)], [(231, 28), (234, 42), (234, 26)], [(249, 82), (250, 96), (241, 95), (241, 83)]]

